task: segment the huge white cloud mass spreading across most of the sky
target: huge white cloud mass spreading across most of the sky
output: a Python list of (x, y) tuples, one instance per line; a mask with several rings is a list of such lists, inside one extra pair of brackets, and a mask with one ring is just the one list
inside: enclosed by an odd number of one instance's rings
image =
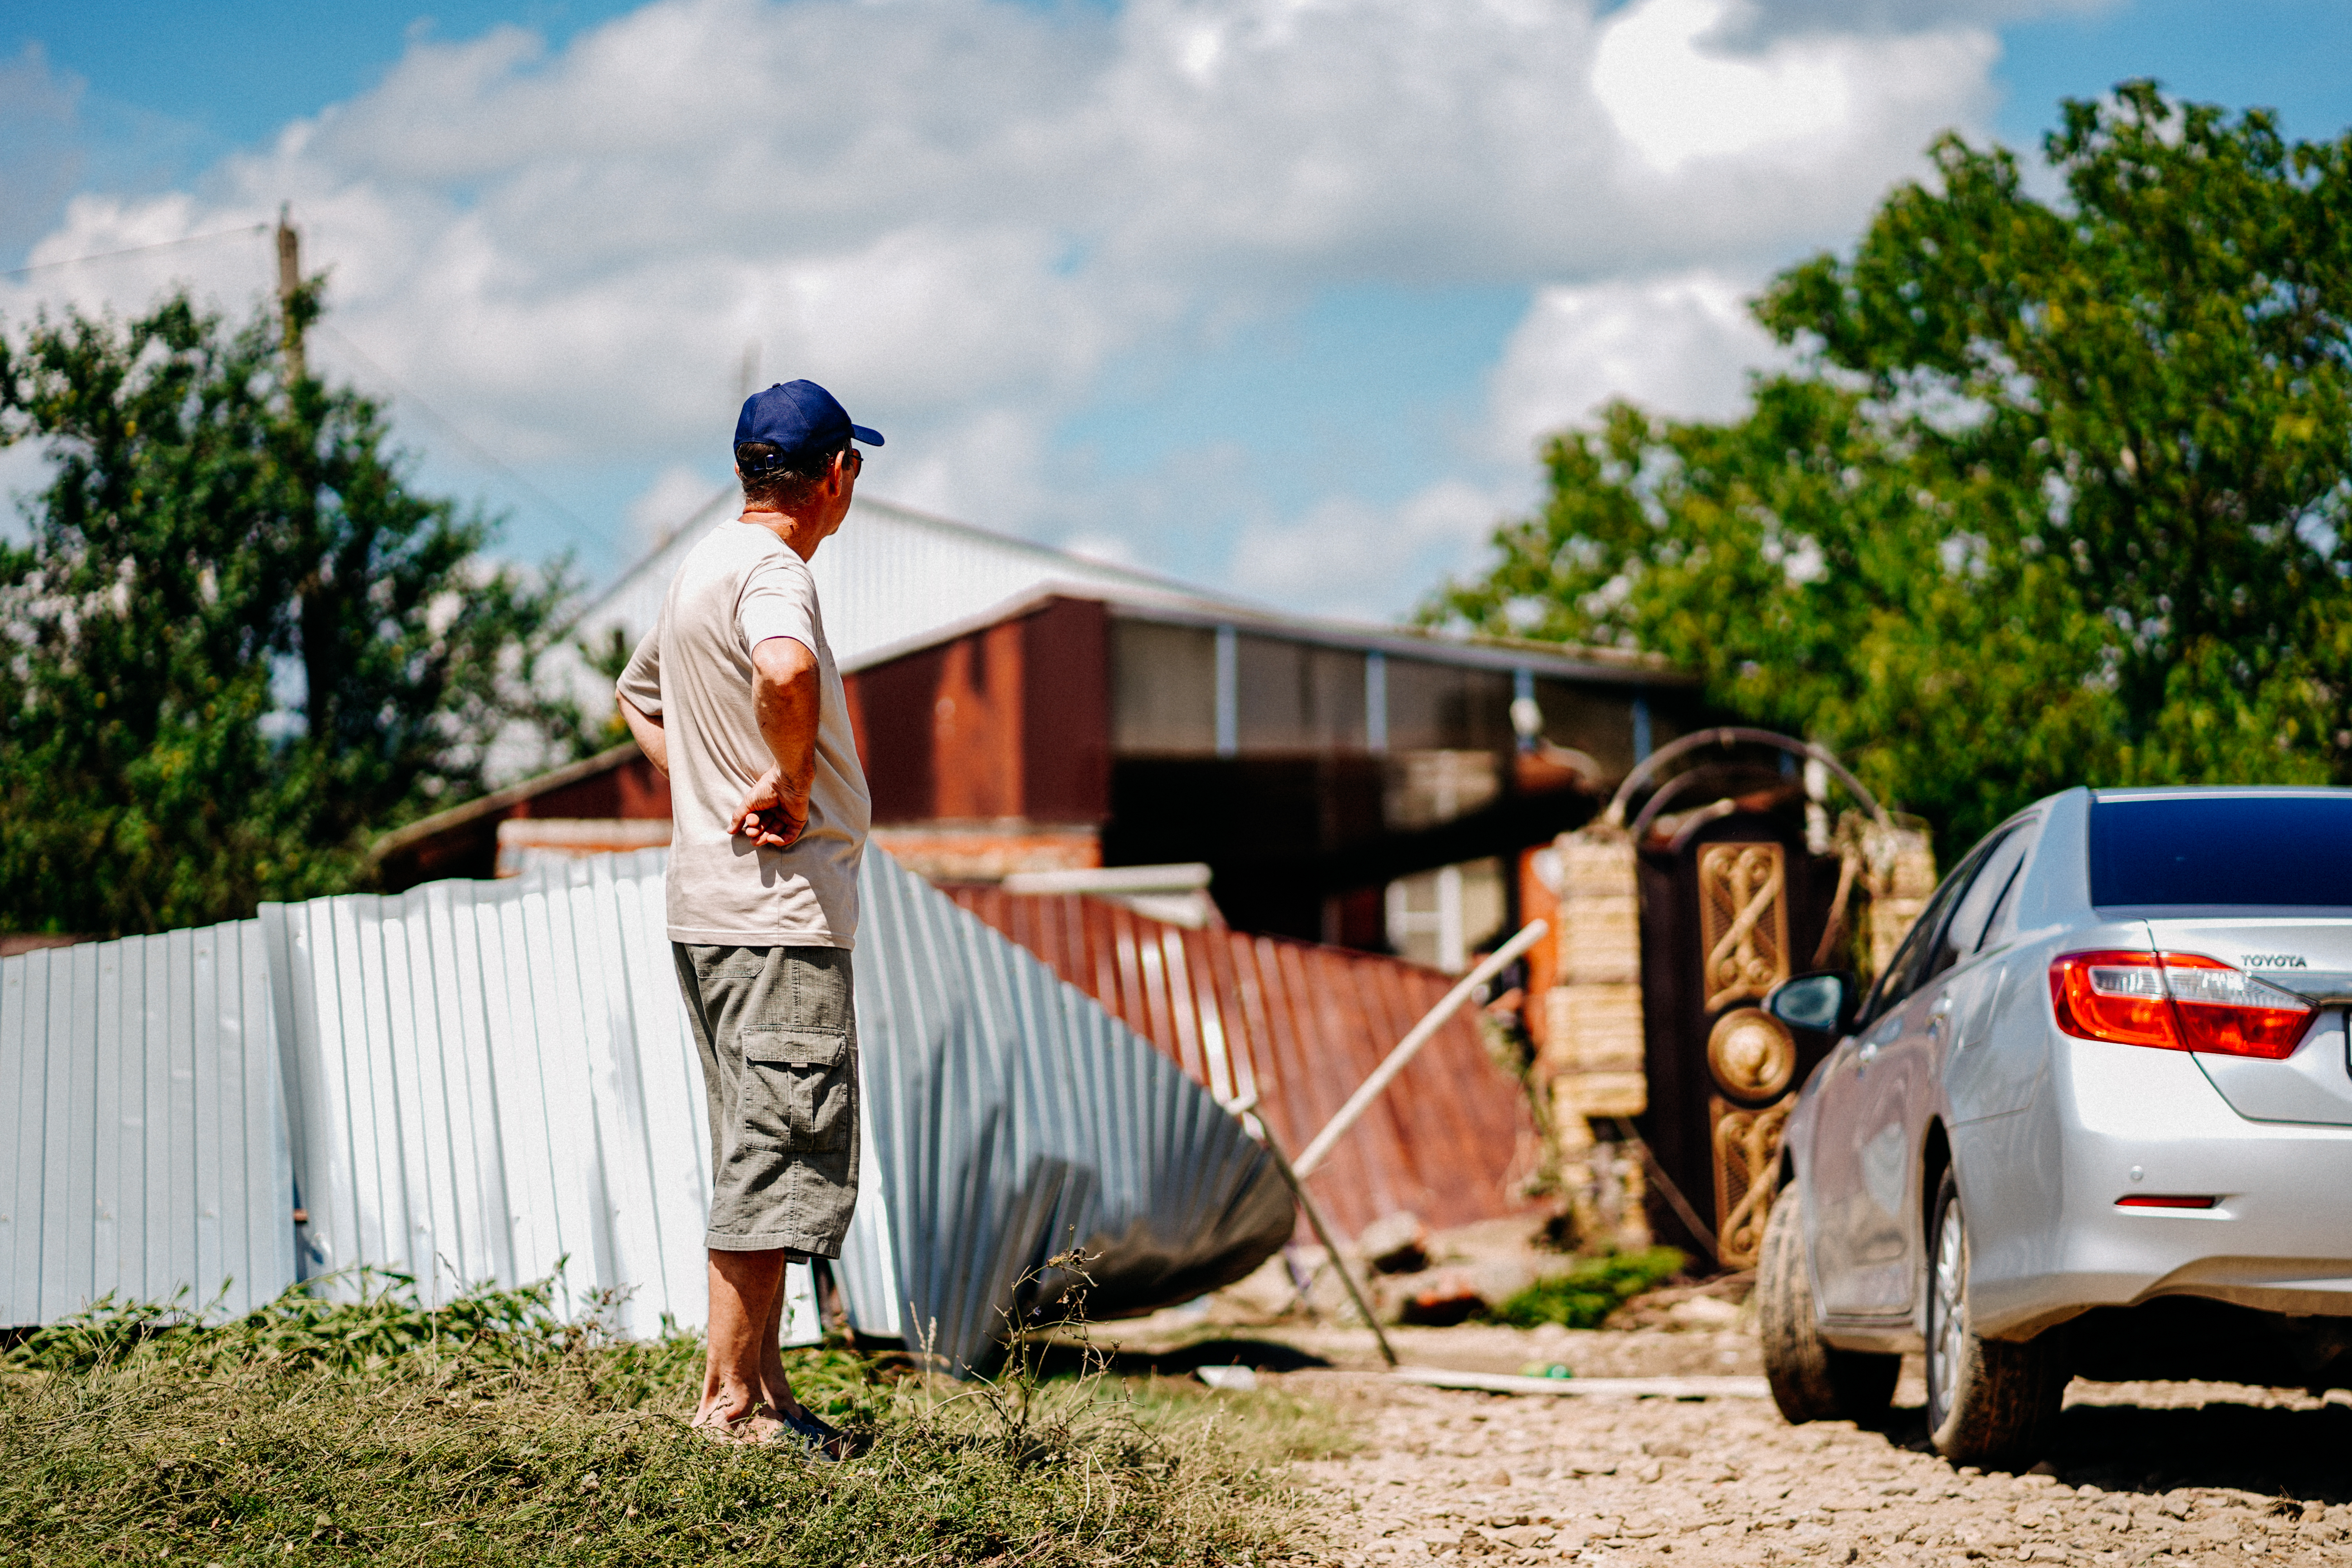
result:
[[(1712, 397), (1710, 355), (1750, 343), (1703, 280), (1851, 233), (1987, 103), (1994, 42), (1959, 0), (1919, 24), (1851, 2), (1867, 28), (1748, 0), (654, 0), (562, 49), (414, 42), (195, 190), (75, 200), (33, 261), (292, 200), (332, 329), (506, 461), (715, 458), (757, 341), (764, 378), (814, 376), (891, 437), (875, 494), (1070, 531), (1051, 430), (1105, 367), (1329, 284), (1543, 287), (1496, 374), (1515, 463), (1606, 390)], [(167, 277), (242, 306), (266, 256), (47, 273), (0, 284), (0, 317)], [(1294, 534), (1345, 531), (1334, 505)], [(1461, 534), (1406, 512), (1381, 527)], [(1308, 592), (1289, 536), (1232, 581)]]

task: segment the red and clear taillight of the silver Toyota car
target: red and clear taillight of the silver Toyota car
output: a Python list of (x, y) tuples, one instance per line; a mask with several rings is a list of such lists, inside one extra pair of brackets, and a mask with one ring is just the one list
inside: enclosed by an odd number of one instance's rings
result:
[(2291, 1056), (2319, 1011), (2197, 952), (2070, 952), (2051, 959), (2051, 1006), (2082, 1039), (2270, 1060)]

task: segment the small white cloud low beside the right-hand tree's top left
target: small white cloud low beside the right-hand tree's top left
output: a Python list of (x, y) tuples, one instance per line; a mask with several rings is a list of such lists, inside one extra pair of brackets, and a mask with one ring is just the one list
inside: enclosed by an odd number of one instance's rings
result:
[(1524, 461), (1611, 397), (1679, 418), (1738, 414), (1748, 371), (1788, 357), (1748, 313), (1755, 289), (1722, 273), (1541, 289), (1489, 388), (1496, 456)]

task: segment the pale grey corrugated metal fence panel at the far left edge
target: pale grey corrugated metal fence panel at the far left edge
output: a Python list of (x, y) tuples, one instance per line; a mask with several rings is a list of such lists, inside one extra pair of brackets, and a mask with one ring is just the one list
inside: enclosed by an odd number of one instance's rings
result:
[(294, 1281), (256, 922), (0, 959), (0, 1324)]

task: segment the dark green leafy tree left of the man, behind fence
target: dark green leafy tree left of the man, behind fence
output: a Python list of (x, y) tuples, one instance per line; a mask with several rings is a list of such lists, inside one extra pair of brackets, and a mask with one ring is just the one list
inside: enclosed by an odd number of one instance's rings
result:
[[(296, 327), (318, 310), (294, 301)], [(0, 341), (0, 442), (52, 475), (0, 545), (0, 926), (155, 931), (365, 884), (541, 698), (564, 569), (492, 567), (383, 411), (174, 296)]]

